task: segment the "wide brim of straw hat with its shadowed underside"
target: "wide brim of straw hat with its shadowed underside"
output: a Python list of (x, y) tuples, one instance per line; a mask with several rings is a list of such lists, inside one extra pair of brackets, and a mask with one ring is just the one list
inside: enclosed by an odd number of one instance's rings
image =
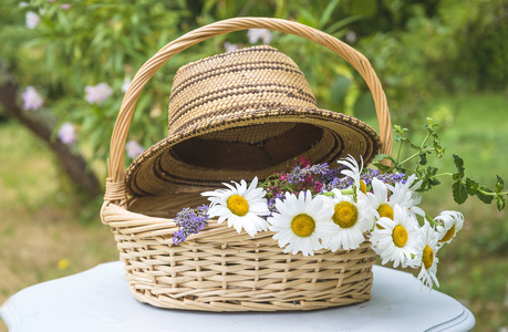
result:
[[(280, 143), (284, 147), (294, 143), (294, 148), (282, 153), (274, 151), (268, 156), (263, 148), (270, 148), (268, 145), (281, 141), (282, 136), (271, 137), (262, 147), (259, 142), (249, 144), (230, 137), (224, 142), (200, 138), (212, 133), (219, 136), (220, 132), (251, 126), (262, 128), (262, 125), (277, 123), (294, 124), (300, 126), (298, 128), (305, 126), (305, 135), (299, 135), (297, 127), (288, 131), (284, 142)], [(255, 176), (263, 179), (274, 172), (286, 170), (299, 155), (313, 164), (330, 164), (346, 155), (362, 157), (369, 164), (380, 146), (380, 137), (371, 126), (342, 113), (304, 107), (243, 110), (235, 116), (182, 129), (153, 145), (127, 168), (125, 184), (127, 193), (136, 197), (203, 191), (220, 187), (224, 181), (249, 181)], [(234, 163), (229, 163), (231, 160)]]

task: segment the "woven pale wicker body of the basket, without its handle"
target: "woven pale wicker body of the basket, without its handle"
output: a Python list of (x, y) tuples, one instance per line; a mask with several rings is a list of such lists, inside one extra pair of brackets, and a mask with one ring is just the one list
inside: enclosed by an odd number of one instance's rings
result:
[(134, 198), (127, 209), (110, 205), (103, 211), (141, 302), (186, 310), (279, 311), (370, 299), (375, 253), (369, 241), (355, 250), (303, 257), (284, 253), (271, 231), (251, 238), (210, 220), (205, 230), (173, 245), (178, 228), (162, 211), (201, 203), (198, 194), (179, 194)]

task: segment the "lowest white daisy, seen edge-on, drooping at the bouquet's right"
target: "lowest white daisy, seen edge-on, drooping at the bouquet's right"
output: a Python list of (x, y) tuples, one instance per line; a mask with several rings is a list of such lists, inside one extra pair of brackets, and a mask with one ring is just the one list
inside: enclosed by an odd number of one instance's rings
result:
[(425, 221), (425, 225), (422, 227), (422, 239), (424, 248), (419, 253), (419, 258), (422, 259), (422, 270), (419, 271), (418, 279), (424, 286), (432, 289), (434, 283), (439, 287), (439, 282), (436, 278), (437, 263), (439, 261), (437, 259), (437, 250), (439, 250), (437, 241), (439, 239), (439, 235), (434, 230), (428, 221)]

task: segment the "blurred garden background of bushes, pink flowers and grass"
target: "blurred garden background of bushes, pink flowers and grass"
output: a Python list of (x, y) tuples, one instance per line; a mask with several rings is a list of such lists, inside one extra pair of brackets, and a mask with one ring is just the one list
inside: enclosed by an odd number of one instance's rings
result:
[[(123, 93), (156, 51), (232, 17), (276, 17), (323, 30), (362, 52), (386, 92), (394, 124), (425, 135), (439, 123), (434, 165), (494, 187), (508, 179), (508, 0), (2, 0), (0, 4), (0, 303), (21, 289), (117, 259), (99, 218), (111, 132)], [(176, 55), (145, 87), (127, 164), (165, 137), (173, 75), (183, 64), (269, 43), (303, 70), (322, 108), (376, 126), (353, 69), (293, 35), (240, 31)], [(406, 153), (406, 152), (404, 152)], [(431, 157), (429, 157), (431, 160)], [(476, 331), (508, 331), (508, 215), (450, 179), (423, 196), (432, 216), (462, 211), (464, 229), (439, 251), (439, 290), (468, 307)], [(0, 326), (0, 331), (4, 326)]]

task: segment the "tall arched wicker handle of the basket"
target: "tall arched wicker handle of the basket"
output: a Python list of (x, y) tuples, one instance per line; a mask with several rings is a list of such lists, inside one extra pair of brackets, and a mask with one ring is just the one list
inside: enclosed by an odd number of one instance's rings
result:
[(348, 61), (365, 80), (374, 98), (377, 121), (380, 123), (381, 153), (392, 154), (392, 123), (386, 96), (371, 63), (363, 54), (336, 38), (301, 23), (270, 18), (235, 18), (218, 21), (182, 35), (160, 49), (137, 71), (124, 95), (120, 114), (113, 128), (110, 151), (111, 159), (108, 160), (108, 183), (118, 184), (124, 180), (124, 149), (134, 107), (143, 87), (157, 70), (173, 55), (204, 40), (234, 31), (255, 28), (303, 37), (330, 49)]

